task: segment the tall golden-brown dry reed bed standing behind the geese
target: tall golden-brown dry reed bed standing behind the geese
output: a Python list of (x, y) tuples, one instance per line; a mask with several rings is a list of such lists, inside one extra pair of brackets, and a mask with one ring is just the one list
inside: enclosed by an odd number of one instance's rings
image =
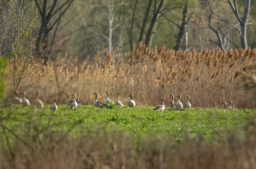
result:
[[(92, 104), (97, 92), (98, 100), (103, 101), (105, 91), (115, 99), (115, 93), (122, 95), (121, 101), (127, 101), (132, 94), (137, 105), (155, 106), (161, 98), (170, 101), (171, 94), (190, 95), (192, 107), (222, 107), (221, 102), (231, 99), (234, 107), (256, 108), (255, 96), (244, 93), (241, 80), (242, 73), (250, 71), (255, 63), (256, 49), (194, 49), (189, 51), (173, 51), (162, 46), (148, 49), (145, 44), (134, 45), (132, 51), (119, 54), (118, 49), (112, 58), (113, 51), (106, 50), (94, 56), (93, 61), (78, 61), (76, 57), (61, 56), (49, 62), (47, 67), (41, 66), (30, 74), (39, 76), (46, 74), (33, 88), (26, 91), (32, 102), (35, 91), (44, 103), (50, 104), (58, 96), (58, 104), (65, 101), (64, 94), (76, 93), (85, 104)], [(32, 63), (35, 64), (35, 63)], [(29, 69), (29, 67), (28, 67)], [(11, 65), (9, 66), (11, 72)], [(6, 102), (13, 100), (11, 89), (12, 75), (6, 76)], [(177, 100), (177, 98), (175, 98)], [(166, 102), (167, 103), (167, 102)]]

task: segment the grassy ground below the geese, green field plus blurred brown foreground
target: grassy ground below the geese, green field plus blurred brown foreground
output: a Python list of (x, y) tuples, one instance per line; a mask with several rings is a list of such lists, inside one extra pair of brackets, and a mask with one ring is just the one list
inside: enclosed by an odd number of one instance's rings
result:
[(255, 110), (49, 106), (0, 109), (1, 168), (256, 167)]

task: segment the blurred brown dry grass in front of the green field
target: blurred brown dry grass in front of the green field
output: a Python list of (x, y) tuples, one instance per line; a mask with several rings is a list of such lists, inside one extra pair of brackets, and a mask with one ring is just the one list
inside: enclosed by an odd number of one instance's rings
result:
[(255, 129), (248, 129), (242, 141), (227, 135), (223, 144), (206, 144), (202, 137), (176, 144), (170, 135), (162, 139), (146, 136), (137, 138), (137, 148), (125, 133), (104, 128), (82, 133), (76, 139), (61, 135), (48, 133), (43, 140), (37, 140), (36, 135), (28, 137), (28, 146), (16, 138), (13, 151), (2, 152), (6, 154), (1, 157), (2, 168), (256, 167)]

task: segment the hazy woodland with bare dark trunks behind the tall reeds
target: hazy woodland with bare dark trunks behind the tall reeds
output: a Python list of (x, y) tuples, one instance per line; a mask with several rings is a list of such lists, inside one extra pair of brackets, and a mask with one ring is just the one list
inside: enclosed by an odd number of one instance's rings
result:
[[(10, 20), (9, 2), (0, 4), (2, 56), (10, 55), (11, 34), (4, 24)], [(19, 0), (16, 4), (23, 4), (21, 23), (29, 20), (31, 11), (37, 12), (35, 50), (45, 59), (63, 53), (90, 59), (105, 49), (127, 52), (140, 41), (175, 50), (256, 47), (254, 0)]]

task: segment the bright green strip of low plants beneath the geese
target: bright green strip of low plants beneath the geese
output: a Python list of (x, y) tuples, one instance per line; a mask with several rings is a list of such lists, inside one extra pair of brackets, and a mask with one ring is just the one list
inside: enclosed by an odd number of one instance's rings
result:
[[(164, 137), (171, 134), (177, 142), (182, 142), (184, 134), (188, 134), (191, 139), (202, 134), (204, 140), (210, 143), (213, 140), (219, 142), (230, 131), (240, 135), (242, 131), (238, 130), (239, 126), (249, 123), (250, 119), (256, 119), (255, 110), (245, 109), (222, 112), (221, 109), (169, 111), (166, 108), (163, 112), (154, 112), (150, 107), (100, 109), (94, 106), (78, 106), (76, 110), (69, 110), (59, 105), (56, 112), (51, 112), (48, 107), (35, 109), (9, 105), (1, 110), (1, 127), (23, 133), (28, 125), (36, 125), (41, 132), (49, 125), (53, 131), (69, 131), (75, 125), (71, 131), (74, 137), (87, 129), (106, 127), (108, 130), (121, 129), (132, 137)], [(4, 138), (2, 133), (1, 137)]]

